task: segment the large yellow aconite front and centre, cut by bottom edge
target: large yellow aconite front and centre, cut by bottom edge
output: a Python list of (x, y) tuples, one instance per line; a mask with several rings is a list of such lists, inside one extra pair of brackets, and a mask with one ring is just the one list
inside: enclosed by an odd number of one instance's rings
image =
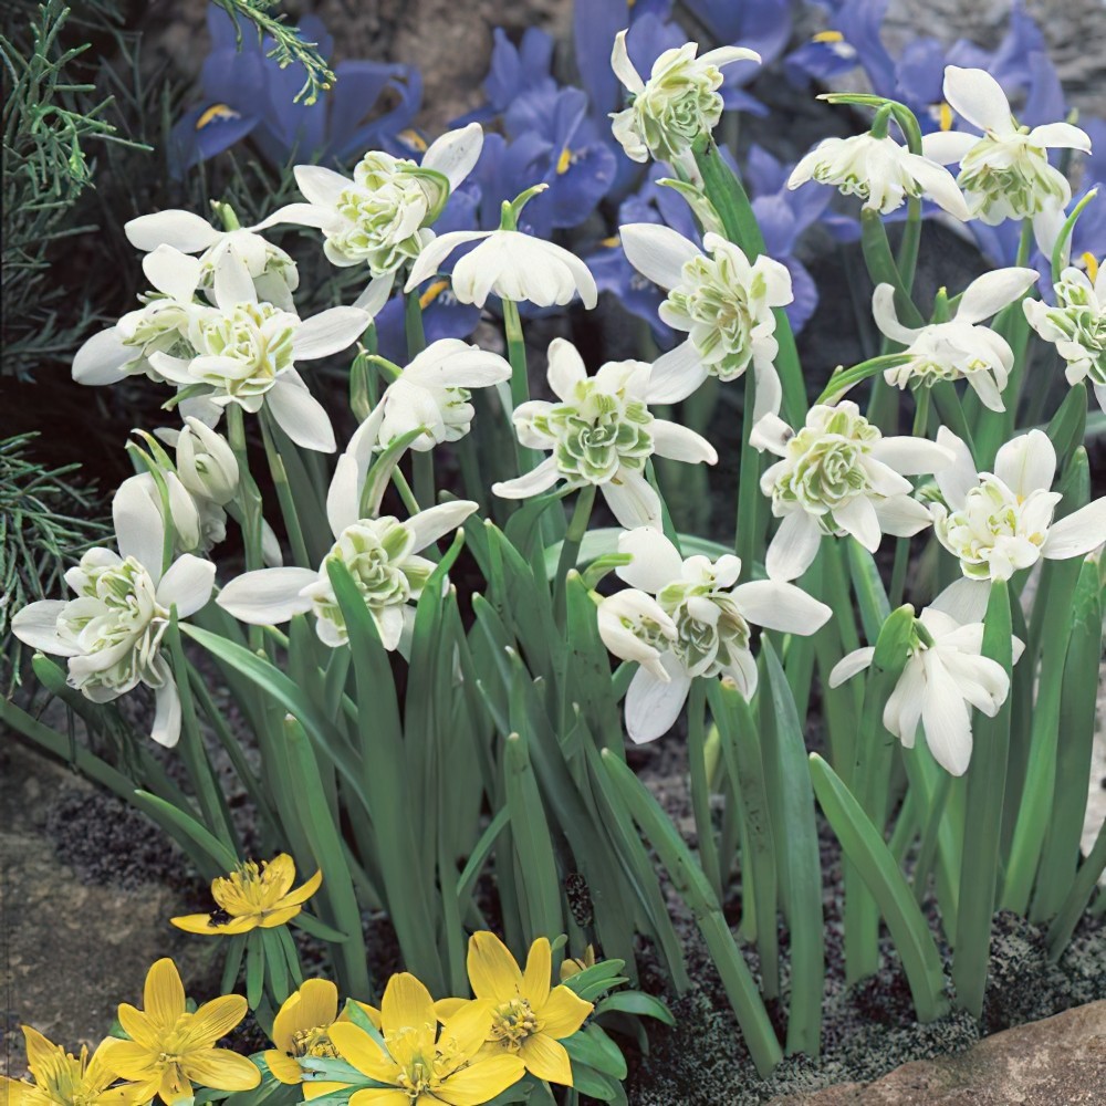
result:
[(484, 1004), (448, 1019), (438, 1033), (430, 992), (411, 974), (393, 975), (380, 1003), (385, 1048), (349, 1022), (331, 1026), (343, 1060), (384, 1087), (356, 1091), (349, 1106), (481, 1106), (518, 1083), (525, 1067), (517, 1056), (482, 1056), (488, 1031)]

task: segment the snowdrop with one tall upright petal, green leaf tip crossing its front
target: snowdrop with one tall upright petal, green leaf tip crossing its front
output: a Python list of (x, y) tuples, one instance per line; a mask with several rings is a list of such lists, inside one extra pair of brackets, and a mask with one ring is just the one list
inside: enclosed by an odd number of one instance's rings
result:
[(258, 626), (288, 622), (311, 612), (315, 633), (331, 648), (348, 640), (345, 618), (334, 596), (326, 563), (336, 559), (364, 596), (386, 649), (401, 648), (414, 625), (411, 606), (422, 594), (435, 563), (419, 556), (428, 545), (456, 530), (478, 507), (456, 500), (413, 514), (405, 522), (390, 515), (362, 517), (361, 495), (371, 453), (346, 451), (331, 481), (326, 518), (334, 545), (312, 568), (258, 568), (232, 580), (216, 602), (236, 618)]

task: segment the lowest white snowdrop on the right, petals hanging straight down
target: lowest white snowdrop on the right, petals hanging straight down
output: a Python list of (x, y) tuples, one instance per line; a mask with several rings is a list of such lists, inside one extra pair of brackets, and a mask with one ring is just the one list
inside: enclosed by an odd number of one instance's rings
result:
[[(920, 723), (937, 763), (952, 775), (963, 775), (971, 760), (971, 708), (993, 718), (1006, 700), (1010, 679), (1002, 665), (980, 656), (981, 622), (961, 625), (927, 607), (915, 629), (909, 659), (884, 707), (884, 726), (912, 749)], [(830, 687), (867, 668), (875, 651), (868, 646), (843, 657), (830, 672)], [(1015, 659), (1020, 651), (1015, 638)]]

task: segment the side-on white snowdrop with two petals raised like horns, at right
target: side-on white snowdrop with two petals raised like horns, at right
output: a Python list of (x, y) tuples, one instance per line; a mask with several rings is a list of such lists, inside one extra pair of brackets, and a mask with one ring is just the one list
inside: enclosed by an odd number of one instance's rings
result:
[(1005, 410), (1002, 393), (1014, 365), (1014, 354), (1001, 334), (981, 326), (984, 319), (1014, 303), (1036, 282), (1035, 269), (997, 269), (964, 289), (951, 320), (926, 326), (905, 326), (895, 311), (895, 290), (880, 284), (872, 298), (876, 325), (910, 357), (888, 368), (884, 378), (899, 388), (932, 387), (939, 380), (966, 379), (982, 404)]

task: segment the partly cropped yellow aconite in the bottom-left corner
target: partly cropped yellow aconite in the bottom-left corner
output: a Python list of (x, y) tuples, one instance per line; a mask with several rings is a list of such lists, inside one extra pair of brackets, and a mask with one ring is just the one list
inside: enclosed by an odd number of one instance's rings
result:
[(34, 1082), (0, 1075), (2, 1106), (131, 1106), (137, 1098), (138, 1088), (131, 1084), (112, 1086), (117, 1077), (106, 1058), (117, 1044), (112, 1037), (102, 1041), (90, 1058), (87, 1048), (74, 1056), (30, 1025), (23, 1026), (23, 1036)]

